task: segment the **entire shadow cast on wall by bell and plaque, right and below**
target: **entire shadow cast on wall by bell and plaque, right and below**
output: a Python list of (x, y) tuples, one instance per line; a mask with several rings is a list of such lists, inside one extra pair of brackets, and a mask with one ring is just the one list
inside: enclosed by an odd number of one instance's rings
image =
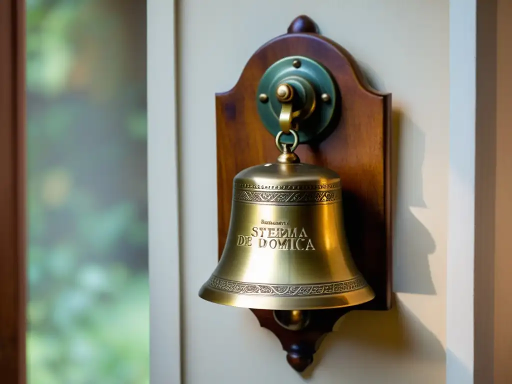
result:
[[(361, 68), (373, 88), (385, 89), (369, 66), (362, 63)], [(392, 129), (393, 291), (434, 295), (429, 255), (434, 253), (436, 244), (411, 209), (427, 208), (422, 175), (425, 135), (399, 109), (392, 112)], [(364, 371), (368, 382), (430, 384), (445, 381), (444, 347), (396, 298), (392, 310), (348, 313), (334, 330), (315, 354), (313, 364), (303, 373), (304, 379), (322, 376), (323, 382), (359, 382)], [(400, 365), (396, 364), (397, 357)], [(323, 370), (323, 366), (329, 369)]]

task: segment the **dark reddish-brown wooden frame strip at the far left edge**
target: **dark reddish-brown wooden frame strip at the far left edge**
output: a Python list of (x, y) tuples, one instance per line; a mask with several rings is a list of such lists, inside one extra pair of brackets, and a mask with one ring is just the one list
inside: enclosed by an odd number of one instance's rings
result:
[(0, 1), (0, 376), (26, 382), (25, 1)]

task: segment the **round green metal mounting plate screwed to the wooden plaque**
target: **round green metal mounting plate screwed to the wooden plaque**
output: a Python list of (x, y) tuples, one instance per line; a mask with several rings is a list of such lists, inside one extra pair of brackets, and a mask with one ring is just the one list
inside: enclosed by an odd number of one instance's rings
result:
[[(306, 81), (304, 81), (306, 80)], [(336, 105), (336, 86), (329, 72), (318, 62), (303, 56), (289, 56), (273, 63), (263, 74), (254, 99), (258, 104), (258, 113), (267, 131), (273, 136), (281, 131), (279, 115), (281, 103), (275, 91), (282, 82), (296, 84), (297, 97), (303, 102), (314, 97), (316, 107), (305, 119), (293, 122), (292, 127), (298, 133), (301, 143), (312, 140), (329, 125)], [(301, 87), (301, 83), (310, 87)], [(311, 93), (314, 94), (311, 94)], [(262, 96), (263, 95), (263, 96)], [(265, 97), (265, 95), (267, 97)], [(324, 101), (322, 95), (328, 95)], [(324, 96), (325, 97), (325, 96)], [(283, 143), (293, 143), (292, 135), (283, 135)]]

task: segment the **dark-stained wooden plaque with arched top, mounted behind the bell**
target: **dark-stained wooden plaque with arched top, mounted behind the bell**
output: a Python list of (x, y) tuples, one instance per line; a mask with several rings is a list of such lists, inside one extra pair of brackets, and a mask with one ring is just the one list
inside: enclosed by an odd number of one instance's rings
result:
[(319, 341), (345, 313), (391, 308), (391, 95), (371, 89), (350, 54), (317, 34), (309, 17), (297, 17), (288, 31), (253, 54), (233, 89), (216, 95), (219, 255), (229, 228), (233, 178), (279, 155), (258, 114), (260, 79), (284, 57), (322, 63), (339, 89), (337, 117), (329, 136), (300, 145), (296, 153), (302, 162), (330, 168), (341, 177), (348, 244), (376, 296), (354, 307), (313, 310), (308, 325), (298, 331), (281, 326), (271, 310), (252, 309), (261, 326), (281, 340), (289, 364), (302, 372)]

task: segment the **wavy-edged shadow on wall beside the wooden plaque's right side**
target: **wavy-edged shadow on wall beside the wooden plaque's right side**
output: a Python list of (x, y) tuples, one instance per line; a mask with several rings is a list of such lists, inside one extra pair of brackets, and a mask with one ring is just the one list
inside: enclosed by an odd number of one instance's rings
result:
[[(359, 62), (359, 66), (372, 88), (386, 89), (369, 65)], [(411, 210), (428, 208), (423, 199), (425, 134), (397, 108), (392, 112), (392, 129), (393, 292), (434, 295), (429, 255), (436, 250), (436, 243)]]

